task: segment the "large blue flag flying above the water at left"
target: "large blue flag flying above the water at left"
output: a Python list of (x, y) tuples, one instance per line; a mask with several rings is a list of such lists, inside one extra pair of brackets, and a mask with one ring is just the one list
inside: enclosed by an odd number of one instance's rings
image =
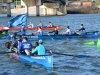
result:
[(24, 25), (26, 26), (26, 14), (20, 14), (20, 15), (17, 15), (13, 18), (11, 18), (9, 21), (8, 21), (8, 26), (9, 27), (19, 27), (21, 25)]

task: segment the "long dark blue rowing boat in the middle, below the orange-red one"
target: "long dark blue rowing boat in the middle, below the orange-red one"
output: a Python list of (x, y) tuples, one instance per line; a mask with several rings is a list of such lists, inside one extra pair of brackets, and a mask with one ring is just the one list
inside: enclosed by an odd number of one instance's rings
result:
[(72, 34), (72, 35), (42, 35), (42, 36), (33, 36), (33, 35), (24, 35), (28, 39), (63, 39), (63, 38), (93, 38), (98, 36), (98, 31), (94, 31), (87, 34)]

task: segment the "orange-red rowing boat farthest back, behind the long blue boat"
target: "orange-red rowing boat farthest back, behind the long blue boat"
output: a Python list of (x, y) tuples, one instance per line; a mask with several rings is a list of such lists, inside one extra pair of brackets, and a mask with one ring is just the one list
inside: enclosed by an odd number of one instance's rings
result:
[[(61, 25), (53, 26), (53, 27), (44, 27), (42, 30), (54, 30), (55, 27), (58, 27), (58, 30), (61, 29)], [(9, 30), (20, 30), (21, 28), (9, 28)], [(26, 30), (37, 30), (37, 28), (25, 28)]]

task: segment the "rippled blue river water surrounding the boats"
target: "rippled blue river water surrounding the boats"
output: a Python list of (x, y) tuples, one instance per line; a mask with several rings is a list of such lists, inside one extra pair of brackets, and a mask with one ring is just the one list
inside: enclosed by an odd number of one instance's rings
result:
[[(5, 25), (10, 18), (0, 16), (0, 24)], [(50, 17), (28, 17), (27, 22), (32, 21), (35, 26), (40, 21), (47, 25), (50, 21), (54, 25), (62, 25), (60, 33), (65, 31), (66, 26), (70, 26), (74, 31), (79, 29), (80, 24), (84, 24), (87, 31), (99, 31), (100, 14), (68, 14), (66, 16)], [(32, 32), (32, 31), (31, 31)], [(47, 31), (45, 31), (47, 32)], [(29, 33), (29, 32), (28, 32)], [(31, 40), (32, 44), (37, 40)], [(8, 58), (7, 54), (0, 55), (0, 75), (99, 75), (100, 74), (100, 50), (96, 45), (84, 45), (84, 42), (97, 41), (97, 38), (76, 38), (60, 40), (44, 40), (47, 49), (58, 53), (68, 53), (76, 55), (88, 55), (90, 57), (78, 58), (74, 56), (64, 56), (54, 54), (54, 67), (47, 70), (42, 67), (32, 67)], [(0, 51), (6, 51), (6, 39), (0, 40)], [(93, 56), (93, 57), (91, 57)]]

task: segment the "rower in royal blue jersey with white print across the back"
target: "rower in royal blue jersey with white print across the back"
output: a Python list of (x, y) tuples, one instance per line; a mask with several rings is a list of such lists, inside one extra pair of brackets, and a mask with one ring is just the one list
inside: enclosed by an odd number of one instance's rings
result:
[(32, 44), (28, 42), (27, 37), (24, 37), (20, 46), (20, 53), (30, 55), (31, 48), (32, 48)]

